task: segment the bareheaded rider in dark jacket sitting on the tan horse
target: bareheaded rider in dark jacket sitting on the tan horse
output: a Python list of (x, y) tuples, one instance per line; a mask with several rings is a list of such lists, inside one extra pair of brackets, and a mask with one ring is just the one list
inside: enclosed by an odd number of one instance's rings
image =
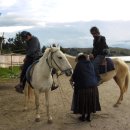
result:
[(106, 38), (100, 35), (100, 31), (97, 27), (92, 27), (90, 29), (90, 33), (94, 37), (93, 49), (92, 54), (90, 54), (90, 58), (94, 59), (93, 60), (94, 68), (96, 71), (98, 81), (100, 81), (99, 65), (104, 60), (105, 56), (109, 54), (109, 47), (106, 43)]

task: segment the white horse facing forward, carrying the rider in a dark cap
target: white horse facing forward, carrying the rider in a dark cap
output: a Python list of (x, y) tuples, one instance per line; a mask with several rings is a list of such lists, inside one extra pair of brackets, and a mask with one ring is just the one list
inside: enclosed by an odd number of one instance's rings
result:
[[(57, 71), (65, 73), (67, 76), (72, 74), (72, 67), (68, 62), (66, 56), (60, 51), (59, 47), (47, 48), (44, 55), (40, 58), (39, 62), (34, 66), (31, 78), (31, 85), (34, 88), (35, 95), (35, 105), (36, 105), (36, 121), (40, 121), (39, 114), (39, 94), (41, 92), (45, 93), (46, 107), (48, 123), (52, 122), (52, 117), (50, 115), (50, 105), (49, 105), (49, 92), (52, 87), (52, 68)], [(28, 95), (29, 95), (29, 84), (26, 83), (25, 86), (25, 110), (28, 105)]]

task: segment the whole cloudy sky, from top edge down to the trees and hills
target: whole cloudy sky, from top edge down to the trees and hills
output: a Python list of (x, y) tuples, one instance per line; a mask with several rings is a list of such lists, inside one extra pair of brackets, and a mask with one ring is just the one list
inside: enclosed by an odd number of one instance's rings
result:
[[(130, 20), (128, 12), (129, 0), (0, 0), (0, 32), (15, 36), (18, 31), (28, 30), (39, 36), (43, 44), (56, 41), (65, 47), (86, 46), (87, 39), (91, 39), (89, 29), (96, 25), (110, 40), (129, 40), (127, 23), (109, 26), (91, 22)], [(75, 24), (77, 21), (80, 22)]]

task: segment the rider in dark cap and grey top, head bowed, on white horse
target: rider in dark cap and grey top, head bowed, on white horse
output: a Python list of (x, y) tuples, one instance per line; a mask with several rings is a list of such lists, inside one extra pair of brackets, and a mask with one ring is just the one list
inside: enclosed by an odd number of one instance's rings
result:
[(30, 32), (27, 31), (22, 31), (20, 36), (22, 40), (26, 42), (26, 56), (20, 75), (20, 84), (17, 85), (15, 89), (17, 92), (23, 93), (26, 83), (26, 71), (34, 61), (38, 60), (39, 57), (42, 56), (42, 52), (40, 42), (37, 37), (33, 36)]

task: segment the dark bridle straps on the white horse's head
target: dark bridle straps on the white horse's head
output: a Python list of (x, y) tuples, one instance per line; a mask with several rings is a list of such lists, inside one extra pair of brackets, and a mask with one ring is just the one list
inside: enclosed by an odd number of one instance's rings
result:
[(49, 68), (50, 68), (50, 69), (53, 69), (53, 68), (54, 68), (53, 65), (52, 65), (52, 61), (53, 61), (53, 62), (55, 63), (55, 65), (59, 68), (59, 70), (61, 71), (61, 73), (57, 75), (57, 76), (60, 76), (60, 75), (64, 74), (67, 70), (71, 70), (72, 68), (65, 69), (65, 70), (62, 70), (62, 69), (60, 68), (60, 66), (56, 63), (55, 59), (53, 58), (54, 53), (56, 53), (57, 51), (58, 51), (58, 50), (56, 50), (56, 51), (54, 51), (54, 52), (50, 52), (50, 53), (51, 53), (51, 56), (50, 56), (50, 58), (51, 58), (51, 65), (49, 64), (49, 58), (48, 58), (48, 57), (46, 58), (46, 62), (47, 62), (47, 64), (48, 64)]

